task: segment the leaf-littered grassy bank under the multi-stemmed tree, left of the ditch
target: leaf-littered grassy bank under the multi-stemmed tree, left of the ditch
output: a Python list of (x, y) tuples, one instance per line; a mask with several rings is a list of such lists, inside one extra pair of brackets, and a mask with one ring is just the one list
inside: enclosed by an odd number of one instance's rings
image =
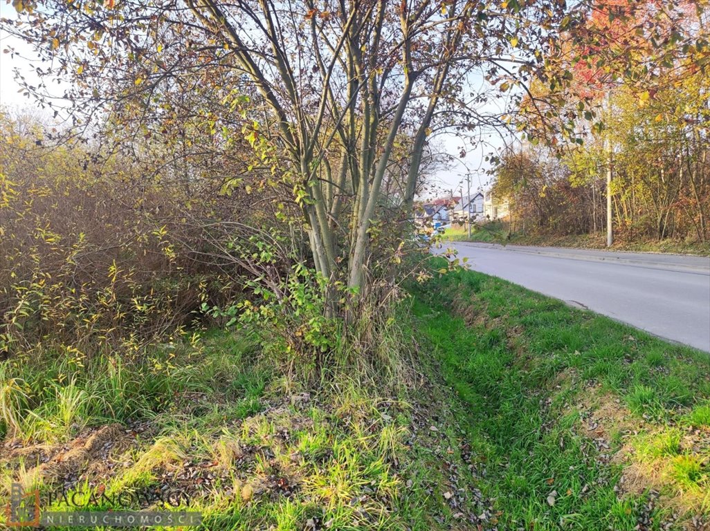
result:
[(43, 510), (194, 510), (205, 530), (425, 531), (488, 510), (440, 376), (304, 389), (268, 350), (211, 332), (131, 361), (2, 362), (1, 496), (19, 483)]

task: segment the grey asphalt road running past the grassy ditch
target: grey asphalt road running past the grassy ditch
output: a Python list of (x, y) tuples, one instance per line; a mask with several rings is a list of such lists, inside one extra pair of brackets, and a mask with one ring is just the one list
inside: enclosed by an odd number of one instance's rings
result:
[(710, 352), (710, 258), (449, 242), (469, 267)]

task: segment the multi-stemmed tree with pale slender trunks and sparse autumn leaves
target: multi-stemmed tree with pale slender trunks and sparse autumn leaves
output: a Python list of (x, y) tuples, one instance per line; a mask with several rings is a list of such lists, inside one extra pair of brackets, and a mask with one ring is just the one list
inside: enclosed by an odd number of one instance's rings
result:
[[(514, 69), (532, 76), (547, 47), (545, 33), (564, 14), (555, 1), (15, 6), (20, 16), (9, 29), (35, 45), (48, 65), (38, 68), (43, 80), (59, 77), (70, 87), (62, 96), (76, 123), (86, 123), (81, 115), (91, 112), (125, 141), (155, 138), (161, 130), (175, 135), (166, 125), (199, 115), (215, 142), (246, 138), (251, 168), (267, 169), (266, 182), (290, 186), (317, 271), (352, 291), (366, 284), (370, 229), (401, 139), (408, 164), (391, 199), (406, 219), (432, 128), (476, 128), (471, 104), (484, 97), (474, 89), (481, 75), (497, 80)], [(40, 97), (45, 89), (28, 86)], [(215, 105), (209, 112), (190, 108), (191, 92)], [(179, 138), (163, 140), (176, 145)]]

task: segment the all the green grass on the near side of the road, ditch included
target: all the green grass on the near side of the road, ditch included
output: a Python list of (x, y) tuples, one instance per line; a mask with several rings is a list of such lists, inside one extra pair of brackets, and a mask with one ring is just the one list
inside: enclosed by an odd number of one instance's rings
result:
[[(0, 491), (168, 485), (187, 491), (180, 508), (200, 510), (203, 529), (229, 530), (680, 529), (709, 518), (706, 354), (475, 272), (435, 273), (411, 291), (378, 340), (382, 360), (412, 365), (394, 388), (344, 367), (307, 389), (276, 369), (276, 347), (217, 330), (131, 357), (1, 362), (0, 431), (21, 452), (0, 455)], [(109, 449), (82, 454), (101, 433)]]

